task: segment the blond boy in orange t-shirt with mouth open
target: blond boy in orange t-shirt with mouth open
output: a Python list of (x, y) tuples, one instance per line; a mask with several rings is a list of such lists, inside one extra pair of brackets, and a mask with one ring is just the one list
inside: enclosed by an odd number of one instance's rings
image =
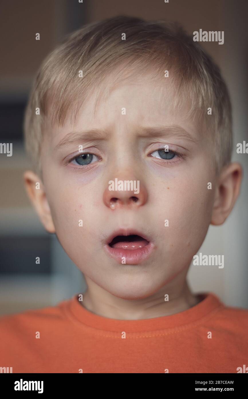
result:
[(25, 114), (25, 185), (88, 288), (2, 317), (0, 366), (239, 372), (247, 310), (186, 280), (240, 191), (231, 125), (219, 68), (177, 24), (110, 18), (47, 57)]

